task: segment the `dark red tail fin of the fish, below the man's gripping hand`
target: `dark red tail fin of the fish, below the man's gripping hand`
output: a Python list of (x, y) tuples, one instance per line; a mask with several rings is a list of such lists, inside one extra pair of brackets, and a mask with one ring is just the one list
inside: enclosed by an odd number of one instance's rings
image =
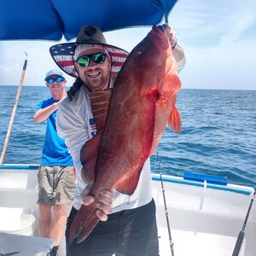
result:
[(73, 219), (68, 234), (68, 244), (71, 246), (73, 242), (79, 243), (90, 235), (95, 228), (99, 218), (96, 215), (96, 203), (79, 209), (79, 212)]

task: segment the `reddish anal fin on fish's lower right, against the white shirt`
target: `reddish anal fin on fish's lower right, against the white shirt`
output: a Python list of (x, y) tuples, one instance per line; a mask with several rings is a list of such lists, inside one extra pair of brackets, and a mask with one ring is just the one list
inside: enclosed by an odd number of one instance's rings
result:
[(125, 195), (132, 195), (137, 188), (137, 183), (142, 172), (142, 168), (139, 172), (133, 172), (129, 177), (123, 179), (114, 189)]

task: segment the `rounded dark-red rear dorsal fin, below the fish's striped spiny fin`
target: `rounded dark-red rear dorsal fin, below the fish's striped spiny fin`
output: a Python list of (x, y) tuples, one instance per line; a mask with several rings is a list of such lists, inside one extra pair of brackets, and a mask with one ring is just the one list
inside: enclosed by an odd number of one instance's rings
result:
[(84, 143), (80, 151), (80, 160), (83, 166), (81, 172), (82, 179), (85, 183), (93, 183), (95, 179), (96, 159), (102, 141), (102, 135), (96, 134), (89, 141)]

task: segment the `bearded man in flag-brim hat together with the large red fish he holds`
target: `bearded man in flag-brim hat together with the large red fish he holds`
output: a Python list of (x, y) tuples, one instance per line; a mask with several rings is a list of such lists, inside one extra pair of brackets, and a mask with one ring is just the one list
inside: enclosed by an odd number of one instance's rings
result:
[(97, 26), (49, 50), (76, 78), (56, 122), (78, 181), (67, 255), (159, 255), (149, 157), (166, 125), (181, 131), (175, 102), (185, 56), (172, 26), (153, 26), (130, 55)]

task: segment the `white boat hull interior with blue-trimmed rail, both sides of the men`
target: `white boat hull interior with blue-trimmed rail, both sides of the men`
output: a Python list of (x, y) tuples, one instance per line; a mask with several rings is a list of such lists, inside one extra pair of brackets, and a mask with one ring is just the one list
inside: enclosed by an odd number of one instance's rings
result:
[[(16, 211), (32, 214), (38, 220), (37, 169), (38, 166), (0, 166), (0, 209), (16, 208)], [(169, 219), (175, 256), (232, 255), (236, 238), (247, 214), (253, 188), (233, 184), (216, 185), (163, 175), (166, 212), (160, 176), (152, 174), (152, 177), (161, 256), (172, 255), (166, 215)], [(256, 255), (255, 205), (256, 203), (247, 220), (240, 256)], [(70, 208), (71, 206), (68, 210)], [(5, 218), (11, 218), (11, 215)], [(39, 236), (38, 222), (34, 236)], [(52, 241), (49, 241), (49, 244), (51, 243)], [(3, 248), (1, 241), (0, 248)], [(15, 249), (19, 251), (19, 248)], [(30, 256), (21, 253), (20, 256)], [(31, 254), (34, 255), (39, 254)], [(58, 255), (65, 256), (64, 238)]]

